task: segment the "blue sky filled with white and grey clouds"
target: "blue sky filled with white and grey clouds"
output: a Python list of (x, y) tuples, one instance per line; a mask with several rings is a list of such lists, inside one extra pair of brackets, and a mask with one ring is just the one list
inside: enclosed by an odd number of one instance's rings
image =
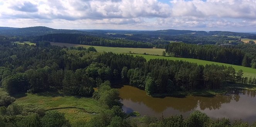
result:
[(256, 0), (0, 0), (0, 26), (256, 32)]

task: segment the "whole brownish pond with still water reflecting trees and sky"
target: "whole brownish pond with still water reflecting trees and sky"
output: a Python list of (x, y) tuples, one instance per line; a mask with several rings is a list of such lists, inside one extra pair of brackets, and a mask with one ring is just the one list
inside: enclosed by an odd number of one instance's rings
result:
[(164, 117), (183, 115), (187, 117), (194, 110), (200, 110), (213, 119), (226, 117), (230, 120), (256, 121), (256, 91), (231, 91), (214, 97), (164, 97), (146, 95), (144, 90), (124, 85), (119, 89), (123, 110), (126, 113), (138, 111), (142, 116)]

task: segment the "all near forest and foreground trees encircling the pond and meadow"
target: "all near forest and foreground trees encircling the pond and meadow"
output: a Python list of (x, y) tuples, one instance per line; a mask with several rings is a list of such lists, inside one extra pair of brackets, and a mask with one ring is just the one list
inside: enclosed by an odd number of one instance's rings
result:
[(76, 123), (73, 127), (249, 127), (242, 121), (212, 120), (199, 111), (186, 119), (182, 115), (132, 118), (122, 111), (119, 92), (112, 86), (127, 83), (154, 95), (221, 89), (225, 83), (256, 84), (255, 78), (248, 80), (241, 70), (236, 72), (232, 67), (164, 59), (146, 61), (129, 54), (99, 53), (94, 47), (51, 46), (46, 41), (37, 42), (36, 46), (0, 45), (0, 66), (1, 87), (9, 93), (0, 93), (0, 125), (9, 127), (71, 127), (62, 113), (36, 105), (18, 105), (11, 97), (17, 93), (44, 91), (92, 97), (105, 109), (89, 122)]

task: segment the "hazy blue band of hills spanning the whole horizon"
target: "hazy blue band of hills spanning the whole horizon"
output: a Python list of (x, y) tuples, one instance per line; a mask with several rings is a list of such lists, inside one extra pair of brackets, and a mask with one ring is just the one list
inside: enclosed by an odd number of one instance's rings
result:
[[(195, 31), (195, 30), (69, 30), (53, 29), (49, 27), (37, 26), (26, 28), (0, 27), (1, 36), (41, 36), (45, 34), (83, 34), (109, 38), (125, 38), (128, 34), (134, 37), (158, 38), (159, 36), (236, 36), (241, 38), (256, 39), (256, 34), (239, 33), (230, 31)], [(112, 34), (109, 34), (112, 33)], [(109, 34), (109, 35), (107, 35)], [(123, 34), (123, 35), (122, 35)], [(126, 35), (127, 34), (127, 35)], [(131, 38), (131, 37), (130, 37)]]

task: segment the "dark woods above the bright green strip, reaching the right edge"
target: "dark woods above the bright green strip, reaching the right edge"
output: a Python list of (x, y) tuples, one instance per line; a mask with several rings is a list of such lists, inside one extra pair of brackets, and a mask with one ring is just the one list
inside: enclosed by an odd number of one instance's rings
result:
[(195, 45), (180, 42), (170, 43), (166, 52), (171, 56), (202, 59), (220, 63), (256, 68), (255, 44), (236, 46)]

